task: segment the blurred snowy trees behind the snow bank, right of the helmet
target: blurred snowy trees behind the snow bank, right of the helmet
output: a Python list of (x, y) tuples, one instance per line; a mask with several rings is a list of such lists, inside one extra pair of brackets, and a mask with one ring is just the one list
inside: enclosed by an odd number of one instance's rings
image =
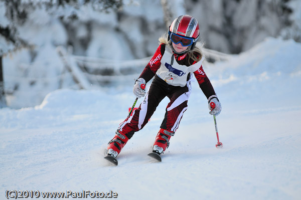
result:
[(239, 53), (266, 37), (282, 36), (300, 42), (301, 25), (297, 26), (301, 13), (299, 0), (185, 2), (186, 11), (199, 20), (201, 38), (210, 49)]

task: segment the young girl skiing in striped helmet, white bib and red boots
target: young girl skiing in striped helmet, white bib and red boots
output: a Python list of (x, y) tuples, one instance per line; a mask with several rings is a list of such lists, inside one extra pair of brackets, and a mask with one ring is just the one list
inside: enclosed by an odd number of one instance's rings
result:
[[(144, 127), (159, 103), (167, 96), (170, 102), (153, 145), (153, 152), (162, 154), (168, 148), (170, 138), (175, 134), (183, 113), (187, 110), (193, 75), (208, 99), (209, 113), (218, 115), (221, 112), (221, 104), (203, 71), (202, 62), (205, 58), (196, 47), (198, 38), (198, 21), (192, 16), (184, 15), (176, 18), (168, 34), (159, 39), (160, 45), (155, 55), (133, 87), (133, 93), (137, 98), (145, 94), (146, 96), (139, 108), (133, 111), (132, 116), (128, 116), (119, 125), (114, 138), (109, 141), (107, 155), (116, 157), (133, 134)], [(145, 86), (154, 76), (146, 93), (141, 85)], [(210, 107), (211, 102), (216, 105), (213, 110)]]

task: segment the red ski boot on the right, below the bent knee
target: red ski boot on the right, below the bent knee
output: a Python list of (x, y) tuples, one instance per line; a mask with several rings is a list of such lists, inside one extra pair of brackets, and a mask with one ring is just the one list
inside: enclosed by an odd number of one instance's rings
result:
[(156, 137), (153, 152), (159, 155), (163, 153), (169, 147), (169, 140), (174, 135), (175, 132), (161, 128)]

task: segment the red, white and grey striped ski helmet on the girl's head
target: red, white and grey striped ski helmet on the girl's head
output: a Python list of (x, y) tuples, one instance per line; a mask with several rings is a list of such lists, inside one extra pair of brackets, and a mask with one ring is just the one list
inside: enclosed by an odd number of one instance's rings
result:
[[(199, 39), (199, 35), (200, 35), (199, 23), (194, 17), (190, 15), (179, 16), (171, 24), (168, 34), (170, 39), (172, 39), (172, 35), (174, 34), (183, 37), (185, 39), (191, 39), (192, 40), (191, 44), (189, 43), (187, 44), (189, 44), (190, 49), (192, 50), (196, 46), (197, 40)], [(184, 46), (188, 46), (188, 45), (184, 45)]]

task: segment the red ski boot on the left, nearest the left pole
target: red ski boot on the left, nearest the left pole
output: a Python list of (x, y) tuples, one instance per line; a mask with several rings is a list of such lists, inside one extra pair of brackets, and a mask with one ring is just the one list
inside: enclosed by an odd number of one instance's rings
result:
[(120, 153), (121, 149), (124, 147), (127, 141), (128, 137), (119, 130), (117, 130), (115, 137), (111, 139), (108, 143), (109, 145), (106, 149), (107, 155), (117, 157), (117, 155)]

